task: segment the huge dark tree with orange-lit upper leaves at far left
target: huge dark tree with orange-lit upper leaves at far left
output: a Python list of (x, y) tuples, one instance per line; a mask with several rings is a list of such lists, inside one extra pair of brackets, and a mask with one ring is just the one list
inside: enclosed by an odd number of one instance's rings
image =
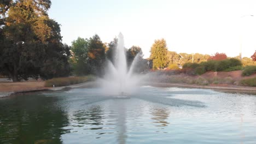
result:
[(0, 73), (13, 81), (69, 74), (69, 46), (49, 19), (49, 0), (0, 2)]

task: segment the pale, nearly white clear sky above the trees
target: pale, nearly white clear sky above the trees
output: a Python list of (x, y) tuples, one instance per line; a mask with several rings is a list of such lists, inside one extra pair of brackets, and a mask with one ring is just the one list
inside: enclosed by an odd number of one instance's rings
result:
[[(256, 50), (255, 0), (51, 0), (63, 43), (98, 34), (109, 43), (121, 32), (125, 47), (149, 57), (154, 40), (169, 51), (251, 57)], [(252, 16), (253, 15), (253, 16)]]

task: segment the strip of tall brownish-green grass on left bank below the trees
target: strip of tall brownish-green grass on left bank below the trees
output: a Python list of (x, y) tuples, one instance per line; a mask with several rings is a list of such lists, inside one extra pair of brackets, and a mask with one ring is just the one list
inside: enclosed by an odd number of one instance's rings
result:
[(62, 87), (95, 80), (95, 76), (59, 77), (45, 81), (45, 87)]

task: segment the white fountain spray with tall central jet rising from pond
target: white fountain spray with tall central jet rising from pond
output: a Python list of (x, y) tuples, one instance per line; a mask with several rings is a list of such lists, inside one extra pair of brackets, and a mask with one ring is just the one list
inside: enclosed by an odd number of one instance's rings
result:
[(133, 60), (131, 67), (127, 70), (125, 57), (124, 36), (119, 33), (118, 45), (114, 51), (114, 63), (107, 60), (107, 68), (104, 79), (100, 80), (103, 94), (107, 95), (130, 95), (136, 91), (139, 77), (133, 74), (138, 56)]

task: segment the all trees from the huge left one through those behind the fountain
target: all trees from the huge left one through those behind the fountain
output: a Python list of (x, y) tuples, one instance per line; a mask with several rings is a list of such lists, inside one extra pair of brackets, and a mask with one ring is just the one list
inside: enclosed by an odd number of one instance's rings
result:
[[(118, 39), (102, 43), (96, 34), (62, 43), (59, 23), (47, 11), (51, 1), (0, 1), (0, 75), (13, 81), (70, 75), (102, 76), (106, 59), (114, 61)], [(126, 49), (128, 65), (138, 56), (138, 73), (148, 70), (141, 47)]]

